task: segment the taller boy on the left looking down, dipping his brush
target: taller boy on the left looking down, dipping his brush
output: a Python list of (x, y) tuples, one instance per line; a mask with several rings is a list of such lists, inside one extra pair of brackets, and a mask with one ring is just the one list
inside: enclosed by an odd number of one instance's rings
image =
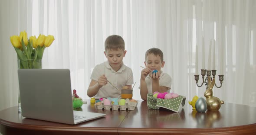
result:
[(122, 87), (127, 86), (131, 89), (133, 84), (131, 68), (123, 63), (126, 54), (124, 39), (119, 35), (108, 36), (105, 40), (104, 54), (108, 61), (94, 67), (87, 95), (95, 96), (95, 99), (100, 97), (121, 98)]

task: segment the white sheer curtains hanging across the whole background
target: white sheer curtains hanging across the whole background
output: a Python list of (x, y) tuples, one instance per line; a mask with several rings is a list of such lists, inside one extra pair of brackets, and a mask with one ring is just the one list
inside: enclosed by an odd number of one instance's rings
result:
[(254, 9), (254, 0), (1, 0), (0, 109), (17, 105), (17, 56), (10, 36), (23, 30), (28, 36), (55, 36), (44, 52), (43, 68), (69, 68), (72, 89), (83, 99), (89, 99), (86, 90), (93, 67), (106, 61), (104, 41), (112, 34), (125, 39), (124, 63), (137, 82), (136, 100), (140, 99), (139, 66), (144, 66), (144, 53), (152, 47), (164, 52), (163, 71), (172, 77), (172, 92), (187, 100), (204, 97), (205, 86), (196, 87), (194, 80), (195, 45), (201, 69), (201, 58), (207, 60), (210, 40), (215, 39), (217, 74), (222, 69), (224, 81), (213, 95), (256, 106)]

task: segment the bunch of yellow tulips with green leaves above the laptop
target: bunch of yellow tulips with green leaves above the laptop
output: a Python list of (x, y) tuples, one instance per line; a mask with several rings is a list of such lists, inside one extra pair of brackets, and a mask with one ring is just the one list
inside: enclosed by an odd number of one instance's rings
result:
[(30, 36), (27, 38), (26, 31), (20, 32), (20, 36), (13, 35), (10, 41), (17, 53), (19, 68), (42, 68), (41, 60), (46, 47), (49, 47), (53, 41), (53, 35)]

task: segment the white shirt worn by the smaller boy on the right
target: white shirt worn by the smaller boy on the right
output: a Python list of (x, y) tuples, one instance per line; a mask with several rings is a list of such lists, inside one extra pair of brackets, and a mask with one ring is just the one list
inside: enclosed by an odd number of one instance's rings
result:
[[(149, 75), (145, 78), (145, 82), (147, 84), (148, 93), (153, 93), (153, 90), (152, 90), (152, 79), (151, 79), (151, 77)], [(169, 74), (163, 73), (163, 71), (161, 71), (161, 74), (160, 74), (160, 77), (159, 77), (159, 86), (167, 87), (168, 88), (167, 92), (170, 93), (170, 89), (171, 89), (171, 76)], [(141, 87), (139, 87), (139, 89), (141, 89)]]

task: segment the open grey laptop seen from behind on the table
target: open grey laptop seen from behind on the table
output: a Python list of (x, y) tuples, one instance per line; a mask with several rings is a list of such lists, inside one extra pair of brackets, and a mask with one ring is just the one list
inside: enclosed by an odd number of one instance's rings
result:
[(78, 124), (103, 113), (73, 110), (69, 69), (18, 69), (23, 117)]

